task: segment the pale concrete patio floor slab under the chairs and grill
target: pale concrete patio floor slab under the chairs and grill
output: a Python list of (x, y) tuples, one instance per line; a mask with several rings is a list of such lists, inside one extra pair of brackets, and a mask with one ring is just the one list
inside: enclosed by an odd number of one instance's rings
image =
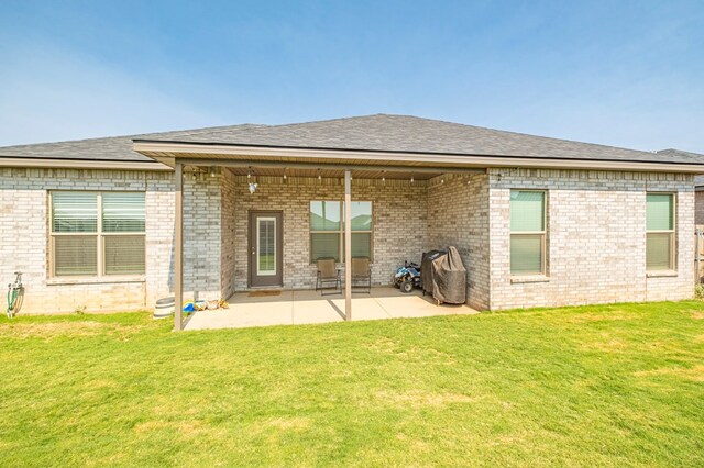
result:
[[(404, 294), (392, 287), (375, 287), (370, 293), (353, 292), (352, 321), (411, 319), (477, 313), (461, 304), (436, 305), (420, 291)], [(258, 290), (237, 292), (226, 310), (195, 312), (184, 320), (185, 331), (302, 325), (345, 320), (344, 294), (321, 296), (310, 290)]]

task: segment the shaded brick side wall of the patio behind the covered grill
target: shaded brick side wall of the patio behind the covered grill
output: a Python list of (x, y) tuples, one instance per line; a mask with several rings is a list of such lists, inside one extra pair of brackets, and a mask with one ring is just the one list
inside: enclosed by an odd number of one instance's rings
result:
[(455, 246), (468, 271), (468, 304), (488, 309), (488, 177), (444, 175), (428, 187), (426, 250)]

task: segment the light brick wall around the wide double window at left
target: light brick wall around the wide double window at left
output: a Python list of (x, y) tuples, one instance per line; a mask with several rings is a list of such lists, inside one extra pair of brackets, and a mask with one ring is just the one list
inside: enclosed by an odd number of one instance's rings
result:
[[(24, 272), (22, 311), (134, 310), (167, 291), (173, 237), (172, 178), (170, 174), (143, 171), (0, 169), (0, 278), (6, 285), (14, 279), (13, 271)], [(147, 275), (121, 280), (51, 278), (50, 190), (146, 191)]]

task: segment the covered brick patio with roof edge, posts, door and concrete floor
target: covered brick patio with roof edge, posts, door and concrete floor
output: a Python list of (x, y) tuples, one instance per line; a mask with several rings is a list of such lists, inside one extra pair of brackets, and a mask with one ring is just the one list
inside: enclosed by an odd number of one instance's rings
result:
[[(176, 308), (176, 331), (471, 312), (378, 288), (399, 265), (448, 246), (468, 268), (466, 303), (486, 308), (485, 291), (472, 292), (474, 272), (487, 271), (485, 160), (210, 141), (134, 148), (175, 170), (175, 302), (232, 304), (188, 317)], [(322, 299), (311, 290), (326, 258), (341, 291)], [(352, 291), (354, 258), (367, 261), (371, 294)]]

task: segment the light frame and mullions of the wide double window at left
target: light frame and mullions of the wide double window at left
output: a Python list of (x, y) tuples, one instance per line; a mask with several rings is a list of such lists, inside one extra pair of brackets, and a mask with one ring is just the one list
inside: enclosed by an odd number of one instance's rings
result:
[[(54, 232), (54, 201), (52, 199), (54, 193), (59, 192), (82, 192), (82, 193), (95, 193), (97, 196), (97, 226), (96, 232), (86, 232), (86, 233), (56, 233)], [(48, 191), (48, 249), (50, 249), (50, 281), (54, 283), (63, 283), (63, 282), (80, 282), (81, 280), (108, 280), (111, 281), (121, 281), (121, 280), (142, 280), (146, 277), (146, 223), (143, 232), (117, 232), (117, 233), (106, 233), (102, 232), (102, 194), (103, 193), (113, 193), (116, 190), (50, 190)], [(121, 191), (123, 193), (145, 193), (140, 190), (124, 190)], [(146, 201), (145, 201), (146, 204)], [(128, 236), (128, 235), (141, 235), (145, 237), (144, 242), (144, 272), (143, 274), (125, 274), (125, 275), (107, 275), (105, 272), (105, 248), (103, 248), (103, 238), (111, 235), (118, 236)], [(96, 248), (98, 249), (97, 254), (97, 275), (68, 275), (61, 276), (56, 275), (56, 261), (54, 258), (54, 254), (56, 252), (56, 247), (54, 245), (54, 239), (59, 236), (97, 236)]]

